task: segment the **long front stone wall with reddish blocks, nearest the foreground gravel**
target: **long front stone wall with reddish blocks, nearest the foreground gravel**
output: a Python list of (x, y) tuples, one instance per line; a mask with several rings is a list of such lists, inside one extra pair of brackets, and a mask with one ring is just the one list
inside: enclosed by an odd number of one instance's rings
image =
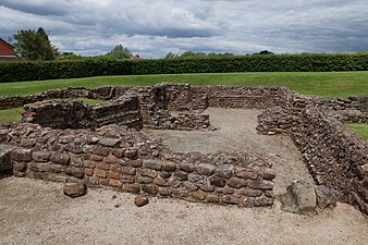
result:
[(191, 201), (269, 206), (275, 173), (258, 155), (175, 154), (134, 130), (109, 125), (96, 131), (2, 124), (14, 175), (83, 182), (123, 192)]

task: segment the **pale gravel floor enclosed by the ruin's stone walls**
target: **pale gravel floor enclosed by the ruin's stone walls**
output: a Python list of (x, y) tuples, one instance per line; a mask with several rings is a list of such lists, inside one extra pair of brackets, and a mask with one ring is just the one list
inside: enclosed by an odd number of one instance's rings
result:
[(144, 130), (152, 137), (160, 137), (163, 143), (179, 152), (248, 151), (261, 152), (273, 162), (277, 172), (274, 193), (285, 193), (293, 180), (314, 183), (302, 156), (289, 136), (269, 136), (257, 133), (259, 110), (217, 109), (205, 111), (210, 117), (217, 131), (154, 131)]

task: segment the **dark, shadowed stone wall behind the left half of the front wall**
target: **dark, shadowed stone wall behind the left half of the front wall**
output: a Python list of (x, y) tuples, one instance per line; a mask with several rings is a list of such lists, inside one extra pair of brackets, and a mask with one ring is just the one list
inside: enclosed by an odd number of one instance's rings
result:
[(53, 128), (96, 128), (107, 124), (123, 124), (142, 128), (137, 97), (119, 103), (91, 107), (75, 100), (51, 100), (25, 106), (23, 122)]

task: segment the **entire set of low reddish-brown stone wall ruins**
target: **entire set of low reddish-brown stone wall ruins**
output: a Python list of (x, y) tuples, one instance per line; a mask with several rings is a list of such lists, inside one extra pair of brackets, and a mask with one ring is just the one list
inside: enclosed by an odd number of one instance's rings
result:
[[(73, 98), (102, 99), (88, 106)], [(212, 131), (207, 108), (258, 109), (258, 132), (292, 137), (315, 184), (368, 213), (368, 144), (344, 122), (368, 123), (368, 96), (299, 96), (282, 87), (71, 87), (0, 97), (24, 107), (0, 124), (0, 175), (106, 186), (191, 201), (271, 206), (278, 172), (253, 152), (176, 152), (142, 128)]]

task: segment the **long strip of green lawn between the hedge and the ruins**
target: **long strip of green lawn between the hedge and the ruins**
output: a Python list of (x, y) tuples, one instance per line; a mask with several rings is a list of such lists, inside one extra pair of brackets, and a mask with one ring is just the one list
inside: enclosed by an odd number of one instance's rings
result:
[(300, 95), (348, 97), (368, 95), (368, 72), (252, 72), (95, 76), (1, 83), (0, 96), (32, 95), (52, 88), (107, 85), (144, 86), (162, 82), (194, 85), (284, 86)]

